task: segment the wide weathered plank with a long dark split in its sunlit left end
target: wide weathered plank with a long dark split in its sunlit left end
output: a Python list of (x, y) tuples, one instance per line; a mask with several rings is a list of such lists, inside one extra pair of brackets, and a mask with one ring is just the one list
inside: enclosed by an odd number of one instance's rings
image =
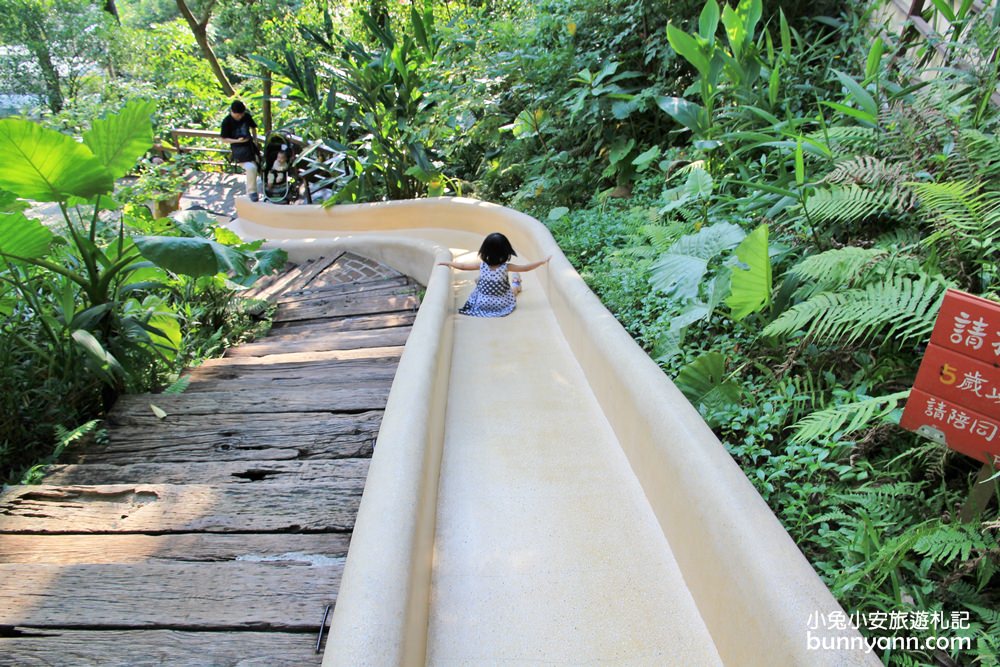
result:
[(346, 532), (358, 486), (14, 486), (0, 494), (0, 533)]

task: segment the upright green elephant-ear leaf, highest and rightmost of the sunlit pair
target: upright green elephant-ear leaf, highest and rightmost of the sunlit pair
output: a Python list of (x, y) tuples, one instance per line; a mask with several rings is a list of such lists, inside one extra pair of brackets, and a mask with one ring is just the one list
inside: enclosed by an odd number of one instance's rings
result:
[(121, 178), (153, 145), (155, 111), (155, 103), (133, 100), (118, 113), (95, 120), (91, 129), (83, 133), (83, 143), (112, 176)]

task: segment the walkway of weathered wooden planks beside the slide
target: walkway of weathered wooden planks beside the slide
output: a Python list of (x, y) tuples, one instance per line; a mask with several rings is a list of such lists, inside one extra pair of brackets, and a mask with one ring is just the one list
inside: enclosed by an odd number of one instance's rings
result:
[(0, 665), (319, 665), (418, 292), (350, 254), (272, 277), (268, 337), (6, 489)]

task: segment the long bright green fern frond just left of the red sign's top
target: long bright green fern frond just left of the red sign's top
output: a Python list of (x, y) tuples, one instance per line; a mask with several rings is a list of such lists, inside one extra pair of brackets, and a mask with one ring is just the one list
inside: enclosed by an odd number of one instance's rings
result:
[(798, 331), (824, 342), (867, 341), (881, 334), (905, 344), (930, 335), (945, 285), (886, 276), (877, 283), (843, 292), (822, 292), (792, 306), (764, 328), (765, 336)]

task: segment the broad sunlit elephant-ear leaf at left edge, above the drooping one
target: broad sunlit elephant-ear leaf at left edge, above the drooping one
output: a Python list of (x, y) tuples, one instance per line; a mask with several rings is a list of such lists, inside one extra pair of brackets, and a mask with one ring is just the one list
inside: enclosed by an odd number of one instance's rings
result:
[(114, 176), (72, 137), (17, 118), (0, 120), (0, 188), (34, 201), (89, 198), (114, 188)]

